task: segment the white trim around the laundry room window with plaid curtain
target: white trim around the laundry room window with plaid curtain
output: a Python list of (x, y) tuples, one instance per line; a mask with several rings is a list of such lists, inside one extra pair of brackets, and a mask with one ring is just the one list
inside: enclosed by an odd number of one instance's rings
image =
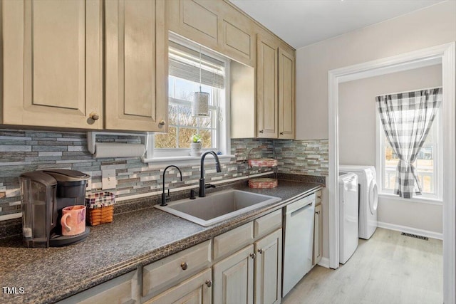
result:
[[(423, 89), (418, 89), (423, 90)], [(417, 91), (417, 90), (410, 90)], [(375, 108), (375, 160), (377, 169), (377, 185), (378, 185), (378, 196), (385, 199), (397, 199), (400, 201), (416, 202), (422, 204), (436, 204), (442, 205), (443, 203), (443, 119), (440, 117), (440, 110), (437, 112), (434, 122), (437, 122), (438, 132), (437, 132), (437, 167), (435, 172), (435, 177), (437, 178), (437, 194), (422, 194), (420, 196), (413, 196), (411, 199), (404, 199), (393, 192), (385, 192), (383, 189), (383, 166), (385, 165), (383, 157), (383, 140), (385, 135), (383, 132), (383, 127), (381, 125), (380, 117), (378, 115), (377, 109)]]

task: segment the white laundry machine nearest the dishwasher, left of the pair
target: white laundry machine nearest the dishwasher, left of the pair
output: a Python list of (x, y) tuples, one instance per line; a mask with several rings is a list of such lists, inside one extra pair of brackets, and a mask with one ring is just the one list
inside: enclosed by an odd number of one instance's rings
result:
[(348, 261), (358, 247), (358, 175), (341, 173), (339, 195), (339, 263)]

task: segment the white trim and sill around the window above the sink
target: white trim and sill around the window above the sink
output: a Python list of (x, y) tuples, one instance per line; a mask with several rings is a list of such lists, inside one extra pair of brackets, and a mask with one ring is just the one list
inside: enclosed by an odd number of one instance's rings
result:
[[(170, 40), (180, 43), (187, 48), (194, 49), (193, 44), (187, 41), (185, 38), (177, 36), (170, 32)], [(214, 51), (204, 48), (202, 46), (202, 51), (207, 51), (211, 57), (223, 61), (225, 63), (225, 78), (224, 78), (224, 92), (225, 92), (225, 102), (224, 105), (219, 105), (220, 112), (222, 112), (222, 122), (217, 120), (217, 149), (202, 149), (202, 153), (214, 150), (214, 152), (221, 152), (218, 157), (220, 162), (227, 163), (229, 159), (235, 157), (231, 153), (231, 111), (229, 100), (230, 96), (230, 70), (229, 70), (229, 59), (222, 56), (217, 56), (214, 54)], [(196, 50), (199, 51), (199, 50)], [(160, 165), (165, 164), (183, 164), (183, 165), (193, 165), (199, 164), (200, 157), (191, 157), (190, 148), (189, 149), (160, 149), (155, 150), (154, 145), (154, 136), (153, 133), (150, 133), (147, 140), (147, 153), (145, 157), (142, 157), (142, 162), (146, 163), (156, 163)]]

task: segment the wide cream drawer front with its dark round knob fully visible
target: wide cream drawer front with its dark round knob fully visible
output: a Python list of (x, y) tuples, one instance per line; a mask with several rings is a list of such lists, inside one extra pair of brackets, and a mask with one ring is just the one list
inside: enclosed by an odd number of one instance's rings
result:
[(211, 263), (211, 241), (175, 253), (142, 268), (142, 296), (157, 295), (171, 285), (207, 268)]

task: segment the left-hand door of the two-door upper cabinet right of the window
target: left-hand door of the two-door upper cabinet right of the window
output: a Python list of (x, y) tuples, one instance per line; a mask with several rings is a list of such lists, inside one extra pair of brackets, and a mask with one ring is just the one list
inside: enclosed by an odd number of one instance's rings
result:
[(277, 138), (277, 50), (272, 37), (257, 36), (257, 136)]

